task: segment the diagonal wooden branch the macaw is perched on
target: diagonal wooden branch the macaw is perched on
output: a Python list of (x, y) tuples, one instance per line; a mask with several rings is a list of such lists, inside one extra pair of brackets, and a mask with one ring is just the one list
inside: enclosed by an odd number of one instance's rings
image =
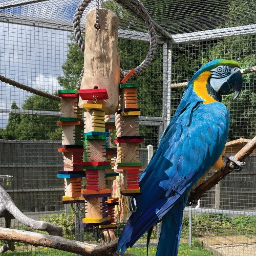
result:
[[(253, 152), (255, 148), (256, 136), (249, 143), (247, 143), (234, 157), (236, 157), (239, 161), (243, 161), (247, 156), (249, 156)], [(224, 179), (228, 174), (230, 174), (233, 169), (233, 163), (229, 161), (224, 167), (223, 172), (216, 172), (208, 180), (203, 182), (201, 185), (197, 186), (194, 190), (191, 190), (187, 202), (191, 202), (193, 200), (203, 197), (204, 193), (207, 190), (211, 189), (216, 184), (218, 184), (220, 180)]]

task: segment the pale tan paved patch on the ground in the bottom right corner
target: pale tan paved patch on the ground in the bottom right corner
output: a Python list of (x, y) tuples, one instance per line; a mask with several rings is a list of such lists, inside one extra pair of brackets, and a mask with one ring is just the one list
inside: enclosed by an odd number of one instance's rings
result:
[(256, 236), (205, 237), (199, 240), (204, 248), (217, 256), (256, 256)]

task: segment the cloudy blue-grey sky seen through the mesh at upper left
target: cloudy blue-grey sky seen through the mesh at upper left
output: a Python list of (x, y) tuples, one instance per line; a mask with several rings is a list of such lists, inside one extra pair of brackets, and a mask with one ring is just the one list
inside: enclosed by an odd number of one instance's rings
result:
[[(3, 3), (0, 0), (0, 6)], [(55, 19), (72, 21), (79, 1), (46, 1), (0, 11), (26, 15), (29, 20)], [(93, 8), (93, 6), (92, 6)], [(86, 14), (84, 14), (85, 16)], [(1, 13), (0, 13), (1, 16)], [(53, 94), (61, 89), (57, 77), (62, 75), (63, 65), (68, 52), (70, 31), (0, 23), (0, 74), (27, 86)], [(22, 89), (0, 82), (0, 109), (10, 109), (15, 100), (22, 108), (24, 100), (31, 96)], [(8, 122), (8, 114), (0, 112), (0, 128)]]

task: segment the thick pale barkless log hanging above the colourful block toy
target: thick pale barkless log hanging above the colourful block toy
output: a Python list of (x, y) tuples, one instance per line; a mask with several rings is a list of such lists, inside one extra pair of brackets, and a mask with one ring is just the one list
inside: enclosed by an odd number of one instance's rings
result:
[[(86, 18), (84, 74), (80, 89), (106, 89), (109, 99), (98, 100), (97, 103), (103, 105), (106, 114), (114, 114), (119, 101), (119, 19), (111, 10), (100, 8), (99, 30), (95, 29), (94, 23), (95, 9), (88, 12)], [(93, 100), (79, 97), (79, 108), (83, 108), (83, 103), (93, 103)]]

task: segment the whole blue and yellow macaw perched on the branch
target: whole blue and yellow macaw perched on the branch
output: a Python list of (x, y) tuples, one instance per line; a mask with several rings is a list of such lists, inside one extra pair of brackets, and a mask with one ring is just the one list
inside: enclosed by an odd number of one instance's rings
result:
[(140, 178), (142, 194), (135, 197), (137, 211), (118, 241), (121, 254), (162, 219), (156, 255), (177, 255), (189, 191), (212, 166), (223, 167), (230, 117), (221, 95), (234, 92), (236, 99), (242, 81), (238, 63), (224, 59), (210, 61), (191, 78)]

